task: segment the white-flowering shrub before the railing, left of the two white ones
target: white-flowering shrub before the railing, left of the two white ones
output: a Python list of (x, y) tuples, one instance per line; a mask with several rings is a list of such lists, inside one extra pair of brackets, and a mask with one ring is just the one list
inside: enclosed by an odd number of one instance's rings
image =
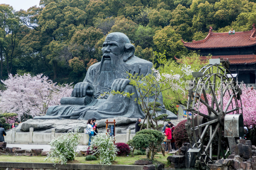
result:
[(51, 149), (45, 160), (50, 159), (53, 163), (59, 161), (61, 164), (67, 164), (67, 161), (74, 160), (80, 137), (81, 135), (77, 132), (71, 132), (52, 139)]

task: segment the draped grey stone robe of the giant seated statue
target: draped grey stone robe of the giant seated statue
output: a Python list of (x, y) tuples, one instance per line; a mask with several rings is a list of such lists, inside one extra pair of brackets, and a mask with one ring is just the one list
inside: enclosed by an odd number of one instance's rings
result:
[[(58, 105), (58, 106), (51, 106), (48, 108), (46, 116), (36, 116), (34, 119), (81, 119), (81, 120), (88, 120), (92, 117), (96, 119), (104, 119), (104, 118), (114, 118), (119, 116), (125, 116), (130, 118), (144, 118), (145, 114), (142, 112), (141, 107), (120, 94), (109, 96), (106, 95), (103, 98), (98, 99), (100, 94), (104, 92), (110, 92), (111, 84), (113, 82), (108, 82), (104, 87), (99, 85), (100, 80), (96, 78), (97, 70), (99, 72), (100, 63), (95, 63), (89, 67), (86, 76), (83, 82), (91, 83), (94, 87), (93, 96), (87, 96), (90, 99), (90, 103), (86, 106), (81, 105)], [(151, 73), (151, 68), (153, 64), (149, 61), (144, 59), (140, 59), (136, 56), (131, 57), (126, 63), (127, 72), (130, 73), (138, 73), (139, 75), (148, 75)], [(110, 73), (110, 74), (109, 74)], [(112, 72), (106, 73), (105, 76), (113, 76)], [(115, 74), (115, 78), (126, 78), (128, 76), (127, 73), (123, 74)], [(109, 78), (111, 79), (111, 78)], [(113, 79), (113, 78), (112, 78)], [(124, 92), (132, 93), (133, 99), (138, 97), (138, 93), (136, 89), (132, 85), (126, 85), (124, 88)], [(73, 92), (72, 92), (73, 93)], [(72, 94), (73, 96), (73, 94)], [(166, 109), (163, 105), (163, 98), (162, 95), (158, 97), (158, 102), (162, 104), (162, 113), (166, 113)], [(170, 112), (170, 111), (167, 111)], [(171, 112), (170, 112), (171, 113)]]

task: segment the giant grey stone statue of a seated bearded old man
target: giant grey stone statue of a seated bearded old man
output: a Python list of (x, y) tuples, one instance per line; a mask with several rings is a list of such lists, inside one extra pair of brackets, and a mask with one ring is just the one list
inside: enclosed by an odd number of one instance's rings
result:
[[(101, 50), (101, 62), (89, 67), (84, 81), (75, 85), (71, 97), (62, 98), (61, 105), (49, 107), (45, 116), (35, 116), (34, 119), (145, 117), (137, 103), (120, 94), (98, 98), (111, 90), (134, 92), (132, 97), (137, 98), (136, 89), (129, 85), (127, 72), (146, 76), (151, 73), (153, 64), (134, 55), (135, 48), (124, 33), (109, 33)], [(161, 113), (177, 119), (176, 115), (165, 109), (162, 95), (158, 99), (162, 104)]]

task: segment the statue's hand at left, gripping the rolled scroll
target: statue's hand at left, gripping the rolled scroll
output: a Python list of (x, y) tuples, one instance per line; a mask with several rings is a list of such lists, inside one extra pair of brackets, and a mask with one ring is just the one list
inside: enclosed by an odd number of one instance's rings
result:
[(85, 95), (92, 96), (94, 87), (91, 83), (79, 82), (75, 85), (73, 94), (74, 97), (84, 97)]

